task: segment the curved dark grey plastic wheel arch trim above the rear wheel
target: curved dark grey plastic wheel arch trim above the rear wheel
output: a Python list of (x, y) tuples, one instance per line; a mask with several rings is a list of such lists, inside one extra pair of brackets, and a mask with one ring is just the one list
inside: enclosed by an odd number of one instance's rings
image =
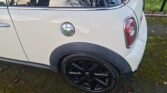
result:
[(60, 71), (59, 67), (61, 67), (62, 58), (74, 53), (91, 54), (103, 58), (115, 66), (121, 74), (129, 76), (130, 73), (132, 73), (132, 69), (128, 62), (119, 54), (103, 46), (84, 42), (68, 43), (56, 48), (50, 55), (51, 68)]

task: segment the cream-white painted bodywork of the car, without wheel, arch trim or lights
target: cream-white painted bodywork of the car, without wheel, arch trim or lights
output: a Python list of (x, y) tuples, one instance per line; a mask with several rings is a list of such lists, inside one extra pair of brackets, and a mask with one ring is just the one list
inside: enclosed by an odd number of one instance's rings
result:
[[(49, 6), (63, 6), (54, 1), (57, 0), (51, 0)], [(125, 0), (107, 8), (0, 6), (0, 57), (21, 60), (23, 64), (34, 62), (50, 66), (51, 54), (57, 47), (86, 42), (119, 54), (134, 72), (147, 41), (147, 24), (141, 7), (143, 0)], [(130, 48), (126, 47), (124, 34), (124, 22), (128, 17), (137, 20), (138, 29), (137, 39)], [(73, 36), (62, 33), (64, 22), (75, 27)]]

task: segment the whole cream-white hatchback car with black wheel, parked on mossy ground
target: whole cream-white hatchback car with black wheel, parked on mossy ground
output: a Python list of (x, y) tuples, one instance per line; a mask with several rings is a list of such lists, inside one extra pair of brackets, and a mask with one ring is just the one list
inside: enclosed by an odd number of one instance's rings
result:
[(0, 60), (59, 71), (86, 92), (114, 89), (142, 59), (143, 0), (0, 0)]

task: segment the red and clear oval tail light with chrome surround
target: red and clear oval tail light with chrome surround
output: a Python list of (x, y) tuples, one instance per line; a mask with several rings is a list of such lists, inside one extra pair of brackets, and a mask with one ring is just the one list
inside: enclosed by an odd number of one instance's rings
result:
[(137, 37), (137, 24), (133, 17), (127, 18), (124, 23), (126, 47), (130, 48)]

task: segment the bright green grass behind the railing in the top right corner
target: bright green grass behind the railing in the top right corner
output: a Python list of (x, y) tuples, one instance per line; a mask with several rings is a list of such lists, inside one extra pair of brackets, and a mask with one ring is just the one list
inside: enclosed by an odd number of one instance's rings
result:
[[(145, 0), (145, 12), (157, 13), (159, 12), (163, 0)], [(167, 12), (167, 4), (164, 8), (164, 13)]]

